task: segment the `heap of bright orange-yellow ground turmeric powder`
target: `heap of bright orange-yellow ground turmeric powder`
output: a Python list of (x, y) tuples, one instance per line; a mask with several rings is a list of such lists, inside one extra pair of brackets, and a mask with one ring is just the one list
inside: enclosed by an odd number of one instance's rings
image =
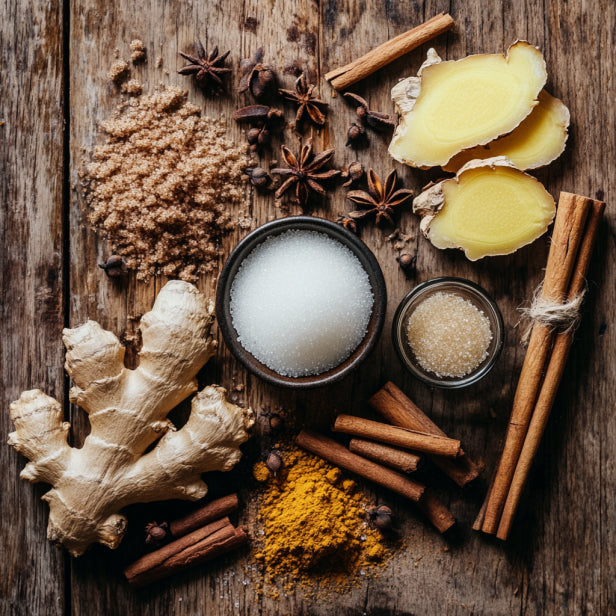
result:
[(374, 573), (390, 548), (369, 526), (355, 482), (299, 449), (281, 456), (275, 477), (262, 462), (253, 469), (258, 481), (267, 481), (258, 518), (264, 534), (255, 555), (266, 581), (282, 579), (285, 588), (318, 581), (344, 591), (357, 575)]

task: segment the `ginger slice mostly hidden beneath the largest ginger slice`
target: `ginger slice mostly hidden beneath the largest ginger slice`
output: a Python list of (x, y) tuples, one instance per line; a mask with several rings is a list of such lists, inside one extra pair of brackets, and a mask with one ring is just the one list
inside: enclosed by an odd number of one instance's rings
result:
[(544, 167), (563, 153), (568, 127), (569, 110), (565, 104), (542, 90), (539, 104), (513, 132), (456, 154), (443, 169), (455, 173), (473, 159), (495, 156), (506, 156), (518, 169)]

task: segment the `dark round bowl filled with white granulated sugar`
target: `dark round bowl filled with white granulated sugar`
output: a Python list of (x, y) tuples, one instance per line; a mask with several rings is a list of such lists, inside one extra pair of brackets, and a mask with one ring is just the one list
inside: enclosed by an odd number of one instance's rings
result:
[(357, 368), (381, 334), (386, 305), (368, 247), (311, 216), (250, 233), (225, 263), (216, 293), (233, 355), (261, 379), (293, 388), (327, 385)]

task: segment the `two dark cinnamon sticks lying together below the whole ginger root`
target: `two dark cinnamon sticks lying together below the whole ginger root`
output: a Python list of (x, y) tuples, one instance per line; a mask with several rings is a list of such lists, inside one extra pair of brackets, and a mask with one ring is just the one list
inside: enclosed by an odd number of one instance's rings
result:
[(124, 570), (129, 584), (146, 586), (243, 545), (248, 540), (246, 532), (227, 517), (237, 507), (237, 494), (230, 494), (165, 524), (174, 541), (129, 565)]

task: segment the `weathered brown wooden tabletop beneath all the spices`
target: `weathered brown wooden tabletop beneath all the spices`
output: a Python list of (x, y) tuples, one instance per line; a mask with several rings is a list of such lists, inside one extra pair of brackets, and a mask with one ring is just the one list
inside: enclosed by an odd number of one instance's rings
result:
[[(237, 64), (260, 45), (266, 60), (291, 87), (294, 66), (318, 79), (330, 113), (324, 130), (314, 133), (317, 148), (335, 147), (337, 165), (355, 158), (344, 147), (353, 111), (332, 97), (323, 75), (369, 48), (433, 15), (450, 12), (456, 29), (434, 41), (447, 59), (469, 53), (501, 52), (518, 38), (543, 50), (548, 90), (571, 111), (565, 154), (537, 172), (550, 193), (577, 192), (608, 202), (589, 274), (588, 298), (563, 384), (537, 457), (510, 541), (505, 545), (474, 533), (470, 526), (481, 503), (486, 479), (463, 492), (446, 479), (436, 487), (459, 520), (449, 542), (410, 511), (402, 500), (362, 484), (366, 500), (390, 504), (403, 521), (406, 547), (379, 579), (360, 580), (344, 595), (309, 600), (302, 589), (278, 599), (258, 596), (258, 571), (251, 552), (229, 555), (209, 566), (157, 584), (130, 589), (121, 571), (139, 549), (142, 524), (189, 504), (150, 505), (128, 511), (130, 530), (115, 552), (96, 546), (73, 559), (45, 538), (48, 489), (19, 480), (24, 458), (0, 447), (0, 611), (2, 614), (613, 614), (616, 613), (616, 86), (614, 44), (616, 8), (612, 0), (5, 0), (0, 6), (0, 290), (2, 335), (0, 440), (11, 425), (8, 405), (24, 389), (41, 388), (63, 401), (79, 445), (88, 432), (84, 413), (68, 404), (63, 370), (62, 328), (95, 319), (125, 338), (136, 324), (129, 316), (147, 311), (164, 280), (124, 283), (108, 279), (97, 263), (108, 254), (105, 242), (89, 228), (79, 171), (97, 138), (97, 124), (120, 101), (106, 73), (115, 59), (129, 57), (129, 43), (147, 45), (147, 64), (133, 74), (146, 91), (159, 83), (189, 89), (189, 99), (206, 114), (230, 118), (248, 99), (231, 88), (228, 96), (207, 99), (176, 73), (179, 50), (190, 51), (195, 36), (208, 48), (231, 50), (232, 83)], [(390, 111), (389, 91), (415, 73), (427, 46), (394, 62), (358, 84), (373, 108)], [(163, 68), (155, 58), (163, 58)], [(286, 107), (287, 119), (292, 110)], [(229, 132), (243, 139), (229, 121)], [(387, 142), (371, 135), (370, 147), (357, 154), (378, 173), (396, 167), (405, 185), (421, 188), (436, 173), (406, 169), (387, 155)], [(289, 129), (285, 142), (299, 140)], [(278, 142), (277, 142), (278, 143)], [(269, 158), (265, 157), (264, 165)], [(344, 189), (315, 214), (335, 218), (348, 211)], [(254, 226), (282, 216), (273, 197), (254, 195)], [(517, 308), (527, 302), (542, 278), (547, 237), (516, 254), (465, 260), (458, 251), (437, 251), (419, 237), (418, 221), (406, 211), (400, 228), (417, 237), (409, 244), (417, 269), (408, 277), (395, 262), (387, 233), (366, 228), (362, 239), (377, 256), (387, 281), (389, 307), (385, 330), (371, 358), (351, 378), (324, 391), (295, 394), (267, 386), (235, 362), (221, 343), (203, 371), (202, 383), (243, 384), (238, 395), (259, 414), (257, 434), (244, 462), (225, 481), (237, 485), (244, 503), (240, 521), (256, 533), (255, 483), (250, 464), (264, 446), (267, 412), (284, 408), (300, 420), (324, 426), (336, 411), (369, 416), (368, 396), (393, 380), (443, 429), (459, 438), (473, 457), (497, 462), (524, 351), (514, 328)], [(246, 231), (225, 242), (230, 249)], [(414, 381), (400, 366), (389, 328), (400, 299), (423, 280), (439, 275), (470, 278), (498, 302), (506, 323), (506, 346), (493, 373), (463, 391), (434, 391)], [(199, 287), (213, 293), (215, 279)], [(130, 354), (129, 354), (130, 355)], [(214, 478), (212, 485), (224, 484)], [(173, 508), (176, 509), (173, 509)]]

